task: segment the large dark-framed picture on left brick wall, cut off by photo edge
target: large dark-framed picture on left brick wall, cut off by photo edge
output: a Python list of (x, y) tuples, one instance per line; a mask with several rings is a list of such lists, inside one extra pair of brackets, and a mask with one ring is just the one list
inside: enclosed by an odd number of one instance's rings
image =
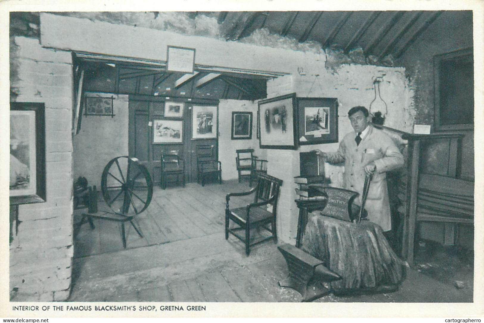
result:
[(10, 204), (45, 202), (45, 106), (10, 103)]

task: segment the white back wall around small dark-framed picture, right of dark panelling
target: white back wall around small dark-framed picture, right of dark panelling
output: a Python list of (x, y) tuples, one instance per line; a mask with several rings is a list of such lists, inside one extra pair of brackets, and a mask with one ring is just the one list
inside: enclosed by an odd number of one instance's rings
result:
[[(232, 140), (232, 111), (252, 112), (252, 139)], [(220, 100), (218, 106), (219, 137), (218, 156), (222, 162), (222, 179), (229, 180), (238, 178), (235, 166), (237, 149), (254, 148), (254, 154), (259, 152), (259, 140), (257, 139), (257, 103), (242, 100)]]

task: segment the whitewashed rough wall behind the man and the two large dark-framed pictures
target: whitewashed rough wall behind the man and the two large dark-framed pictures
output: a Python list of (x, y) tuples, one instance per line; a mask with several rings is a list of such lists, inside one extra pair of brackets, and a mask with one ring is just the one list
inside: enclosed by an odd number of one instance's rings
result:
[[(412, 101), (413, 90), (408, 86), (404, 68), (357, 64), (328, 66), (328, 60), (335, 61), (321, 53), (306, 53), (302, 60), (291, 66), (292, 75), (268, 81), (268, 97), (296, 92), (298, 97), (338, 98), (340, 141), (348, 132), (353, 131), (348, 120), (348, 110), (357, 105), (369, 107), (375, 97), (373, 79), (383, 77), (380, 84), (381, 97), (388, 106), (385, 125), (411, 132), (416, 112)], [(398, 137), (395, 140), (398, 142)], [(337, 148), (338, 143), (330, 143), (302, 146), (298, 150), (265, 150), (269, 160), (268, 173), (284, 181), (277, 222), (278, 235), (282, 241), (294, 242), (296, 237), (299, 210), (294, 203), (297, 196), (293, 177), (299, 175), (299, 153), (312, 149), (329, 152)], [(326, 163), (325, 170), (332, 186), (343, 186), (343, 166)]]

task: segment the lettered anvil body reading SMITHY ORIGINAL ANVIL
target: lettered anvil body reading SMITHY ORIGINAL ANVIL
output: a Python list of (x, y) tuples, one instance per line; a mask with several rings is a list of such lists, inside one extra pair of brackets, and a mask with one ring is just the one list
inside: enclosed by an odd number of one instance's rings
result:
[(328, 196), (328, 200), (321, 215), (351, 222), (354, 215), (358, 214), (355, 213), (352, 203), (359, 193), (336, 187), (325, 187), (324, 192)]

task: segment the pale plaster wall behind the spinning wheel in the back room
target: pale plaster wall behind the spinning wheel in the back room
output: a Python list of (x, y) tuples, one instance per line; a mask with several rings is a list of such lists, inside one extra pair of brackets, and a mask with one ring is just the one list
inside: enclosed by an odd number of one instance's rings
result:
[(128, 155), (128, 95), (90, 93), (114, 97), (110, 116), (82, 116), (81, 129), (73, 138), (74, 178), (83, 176), (88, 185), (101, 189), (101, 174), (114, 157)]

